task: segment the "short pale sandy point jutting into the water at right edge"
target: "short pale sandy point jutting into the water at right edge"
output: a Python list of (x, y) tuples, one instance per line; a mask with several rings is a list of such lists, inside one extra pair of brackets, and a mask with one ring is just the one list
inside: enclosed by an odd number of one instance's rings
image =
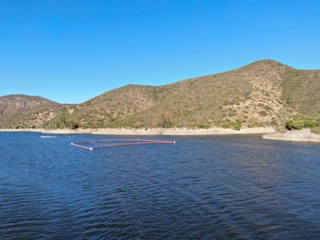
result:
[(291, 130), (287, 132), (276, 132), (273, 134), (264, 134), (264, 139), (282, 140), (282, 141), (302, 141), (320, 143), (320, 134), (315, 134), (310, 129)]

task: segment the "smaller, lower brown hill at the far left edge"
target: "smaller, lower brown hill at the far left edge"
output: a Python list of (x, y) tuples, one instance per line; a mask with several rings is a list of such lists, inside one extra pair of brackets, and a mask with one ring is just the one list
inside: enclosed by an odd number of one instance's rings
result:
[(1, 128), (40, 128), (56, 117), (62, 104), (38, 96), (7, 95), (0, 97)]

